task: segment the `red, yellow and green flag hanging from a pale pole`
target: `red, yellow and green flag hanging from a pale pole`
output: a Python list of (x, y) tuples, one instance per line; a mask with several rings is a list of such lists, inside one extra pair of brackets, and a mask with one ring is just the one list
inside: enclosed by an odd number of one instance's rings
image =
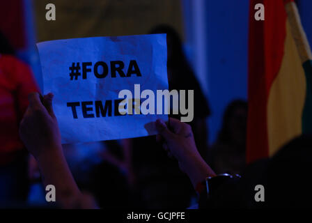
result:
[[(254, 6), (265, 6), (265, 20)], [(247, 162), (312, 133), (312, 55), (292, 0), (251, 0)]]

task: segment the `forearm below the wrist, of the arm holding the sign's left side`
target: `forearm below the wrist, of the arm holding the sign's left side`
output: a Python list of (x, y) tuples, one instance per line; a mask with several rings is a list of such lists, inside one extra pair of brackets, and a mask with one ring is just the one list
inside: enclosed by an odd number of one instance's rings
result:
[(63, 155), (61, 146), (46, 150), (37, 158), (43, 184), (54, 185), (56, 202), (62, 208), (79, 208), (81, 192), (77, 187)]

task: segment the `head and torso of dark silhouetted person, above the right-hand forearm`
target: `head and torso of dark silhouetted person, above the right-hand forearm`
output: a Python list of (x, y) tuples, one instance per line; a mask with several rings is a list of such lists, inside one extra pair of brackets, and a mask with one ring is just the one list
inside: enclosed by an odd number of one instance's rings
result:
[[(150, 33), (167, 34), (169, 90), (194, 90), (194, 119), (189, 125), (191, 125), (194, 132), (198, 151), (205, 159), (207, 158), (208, 151), (208, 128), (206, 119), (210, 116), (208, 100), (206, 100), (191, 66), (189, 66), (183, 52), (182, 41), (177, 31), (171, 26), (163, 24), (156, 26)], [(170, 116), (180, 119), (181, 114), (172, 115), (171, 111)]]

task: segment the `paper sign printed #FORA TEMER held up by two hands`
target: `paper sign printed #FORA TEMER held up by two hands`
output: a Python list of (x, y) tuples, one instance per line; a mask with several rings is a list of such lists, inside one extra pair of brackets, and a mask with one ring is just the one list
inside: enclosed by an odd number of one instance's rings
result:
[[(118, 93), (168, 89), (166, 35), (53, 40), (38, 43), (43, 92), (54, 93), (62, 143), (156, 134), (165, 114), (120, 115)], [(137, 85), (138, 86), (138, 85)], [(142, 100), (142, 99), (141, 99)], [(155, 99), (156, 101), (156, 99)]]

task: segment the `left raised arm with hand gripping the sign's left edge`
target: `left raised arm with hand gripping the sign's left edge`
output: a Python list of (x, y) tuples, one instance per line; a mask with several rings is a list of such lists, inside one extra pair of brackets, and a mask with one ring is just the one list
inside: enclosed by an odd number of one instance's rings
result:
[(20, 124), (20, 137), (38, 162), (43, 184), (54, 185), (56, 202), (62, 208), (81, 208), (81, 192), (63, 155), (52, 98), (52, 93), (43, 98), (39, 93), (29, 94), (29, 107)]

